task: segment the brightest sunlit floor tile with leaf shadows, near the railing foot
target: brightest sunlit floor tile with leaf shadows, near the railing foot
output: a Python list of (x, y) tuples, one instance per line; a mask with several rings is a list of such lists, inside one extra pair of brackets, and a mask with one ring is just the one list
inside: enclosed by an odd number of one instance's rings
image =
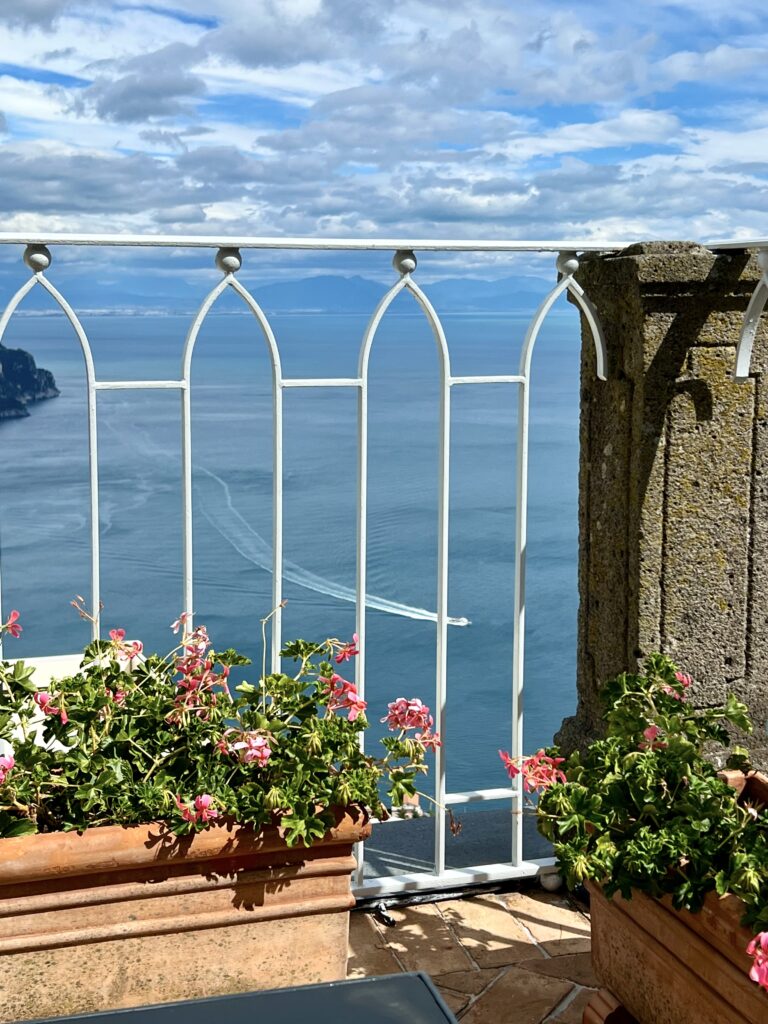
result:
[(505, 967), (543, 955), (495, 896), (449, 900), (437, 905), (479, 967)]

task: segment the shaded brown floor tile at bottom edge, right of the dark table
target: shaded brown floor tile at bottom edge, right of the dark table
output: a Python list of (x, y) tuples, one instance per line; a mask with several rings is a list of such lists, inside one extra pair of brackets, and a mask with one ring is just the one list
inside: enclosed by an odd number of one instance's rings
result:
[(541, 1024), (573, 986), (511, 967), (473, 1002), (463, 1024)]

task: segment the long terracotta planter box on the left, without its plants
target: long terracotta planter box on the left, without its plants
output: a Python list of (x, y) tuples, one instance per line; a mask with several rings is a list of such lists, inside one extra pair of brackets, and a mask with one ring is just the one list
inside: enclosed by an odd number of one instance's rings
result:
[(346, 975), (360, 814), (289, 849), (232, 823), (0, 841), (0, 1020), (117, 1009)]

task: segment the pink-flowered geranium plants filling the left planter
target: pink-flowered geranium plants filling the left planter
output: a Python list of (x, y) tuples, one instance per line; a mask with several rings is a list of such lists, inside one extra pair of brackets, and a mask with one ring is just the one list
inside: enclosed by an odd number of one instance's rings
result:
[[(18, 613), (0, 629), (17, 636)], [(392, 701), (381, 756), (364, 754), (367, 705), (337, 671), (356, 637), (292, 641), (282, 656), (293, 675), (230, 686), (249, 659), (215, 649), (185, 614), (173, 629), (165, 656), (114, 629), (45, 690), (24, 662), (0, 663), (0, 837), (156, 820), (184, 834), (226, 817), (309, 845), (334, 809), (384, 815), (382, 785), (395, 806), (415, 794), (439, 743), (429, 709)]]

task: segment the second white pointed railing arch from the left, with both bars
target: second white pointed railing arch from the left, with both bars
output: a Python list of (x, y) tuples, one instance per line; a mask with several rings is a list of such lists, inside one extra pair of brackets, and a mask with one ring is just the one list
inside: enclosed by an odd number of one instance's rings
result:
[(222, 248), (216, 254), (216, 265), (224, 276), (203, 300), (189, 326), (181, 355), (181, 461), (183, 515), (183, 588), (184, 610), (194, 612), (194, 545), (193, 545), (193, 461), (191, 461), (191, 359), (201, 328), (213, 305), (231, 288), (256, 317), (269, 353), (272, 373), (272, 609), (271, 656), (272, 672), (280, 670), (282, 647), (283, 602), (283, 368), (280, 349), (271, 325), (256, 299), (234, 274), (243, 265), (238, 249)]

